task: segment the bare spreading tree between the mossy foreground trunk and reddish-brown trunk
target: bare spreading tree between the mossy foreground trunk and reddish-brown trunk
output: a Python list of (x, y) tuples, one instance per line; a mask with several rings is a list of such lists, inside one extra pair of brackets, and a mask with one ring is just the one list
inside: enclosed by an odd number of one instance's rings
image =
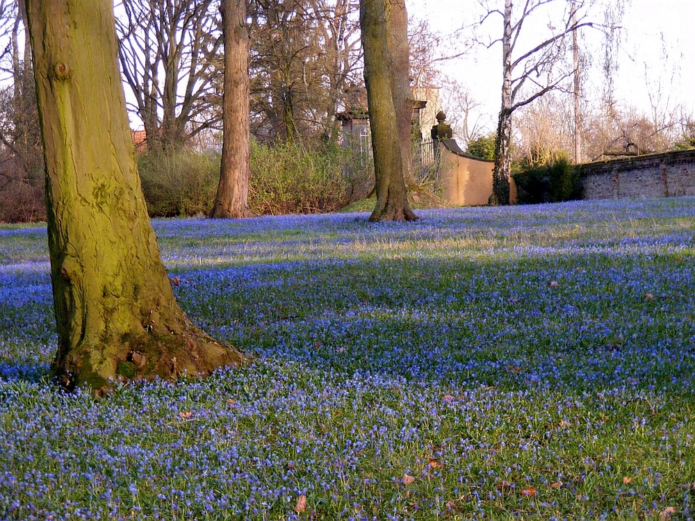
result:
[(222, 49), (215, 0), (122, 0), (118, 58), (149, 150), (180, 149), (215, 128), (216, 62)]

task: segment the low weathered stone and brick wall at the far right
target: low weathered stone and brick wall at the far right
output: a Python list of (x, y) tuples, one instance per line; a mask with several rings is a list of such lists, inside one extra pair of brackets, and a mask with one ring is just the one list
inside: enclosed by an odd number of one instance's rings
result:
[(580, 165), (584, 199), (695, 195), (695, 150)]

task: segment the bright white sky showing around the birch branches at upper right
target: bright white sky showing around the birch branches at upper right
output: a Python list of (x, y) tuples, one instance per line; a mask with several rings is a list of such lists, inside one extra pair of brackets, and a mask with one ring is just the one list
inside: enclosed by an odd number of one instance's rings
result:
[[(495, 1), (502, 9), (504, 1)], [(406, 0), (406, 5), (411, 17), (427, 19), (431, 28), (444, 35), (470, 24), (482, 13), (476, 0)], [(596, 18), (602, 20), (603, 11), (596, 11)], [(624, 32), (615, 98), (623, 106), (651, 113), (648, 95), (651, 91), (663, 110), (673, 110), (680, 104), (687, 113), (694, 113), (695, 0), (632, 0), (621, 26)], [(489, 19), (484, 28), (490, 33), (496, 31), (493, 38), (498, 38), (502, 31), (501, 17)], [(465, 38), (471, 31), (463, 34)], [(584, 35), (584, 38), (588, 40), (591, 36)], [(595, 52), (599, 53), (598, 49)], [(500, 44), (491, 49), (479, 46), (468, 58), (443, 65), (445, 73), (468, 88), (475, 101), (482, 104), (480, 122), (489, 131), (496, 127), (500, 108), (501, 55)], [(603, 55), (596, 58), (598, 62)], [(600, 81), (600, 75), (596, 74), (593, 92), (591, 83), (584, 92), (587, 98), (600, 97), (600, 85), (597, 85)]]

